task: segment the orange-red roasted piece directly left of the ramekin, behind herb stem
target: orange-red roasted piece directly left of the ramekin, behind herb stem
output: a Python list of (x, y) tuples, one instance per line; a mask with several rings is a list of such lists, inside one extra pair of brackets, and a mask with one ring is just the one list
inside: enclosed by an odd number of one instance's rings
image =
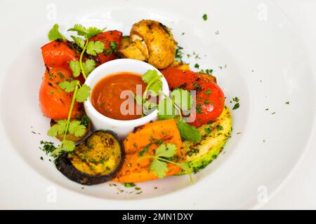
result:
[[(53, 120), (67, 119), (72, 103), (72, 92), (65, 92), (58, 83), (72, 77), (68, 69), (47, 68), (39, 89), (39, 106), (47, 118)], [(72, 118), (83, 112), (83, 105), (74, 103)]]

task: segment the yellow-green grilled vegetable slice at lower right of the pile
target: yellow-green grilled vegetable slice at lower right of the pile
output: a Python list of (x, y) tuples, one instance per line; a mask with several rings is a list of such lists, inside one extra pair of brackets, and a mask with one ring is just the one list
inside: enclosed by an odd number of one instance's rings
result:
[(224, 107), (223, 113), (213, 123), (203, 125), (198, 130), (202, 134), (202, 139), (195, 143), (183, 141), (181, 148), (183, 162), (190, 162), (192, 172), (195, 173), (215, 160), (230, 138), (232, 121), (228, 107)]

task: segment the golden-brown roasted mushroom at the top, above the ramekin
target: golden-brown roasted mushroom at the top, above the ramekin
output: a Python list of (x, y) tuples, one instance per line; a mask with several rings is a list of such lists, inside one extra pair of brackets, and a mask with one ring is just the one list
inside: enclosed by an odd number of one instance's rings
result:
[(168, 27), (154, 20), (141, 20), (131, 28), (130, 44), (124, 40), (119, 53), (123, 57), (146, 61), (157, 69), (173, 63), (176, 41)]

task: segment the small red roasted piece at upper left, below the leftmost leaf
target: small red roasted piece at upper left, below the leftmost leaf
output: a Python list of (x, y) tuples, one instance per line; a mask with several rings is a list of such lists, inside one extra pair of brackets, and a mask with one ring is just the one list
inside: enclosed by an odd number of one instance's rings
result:
[(70, 41), (56, 40), (41, 47), (44, 64), (48, 67), (68, 68), (70, 61), (79, 59), (80, 52), (74, 50), (76, 45)]

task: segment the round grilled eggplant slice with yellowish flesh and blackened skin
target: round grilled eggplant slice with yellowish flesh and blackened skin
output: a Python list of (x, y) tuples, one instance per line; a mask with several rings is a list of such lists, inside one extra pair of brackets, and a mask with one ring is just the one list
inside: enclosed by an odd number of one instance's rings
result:
[(124, 146), (114, 132), (99, 130), (81, 142), (73, 152), (62, 155), (57, 169), (68, 179), (83, 185), (110, 181), (124, 162)]

